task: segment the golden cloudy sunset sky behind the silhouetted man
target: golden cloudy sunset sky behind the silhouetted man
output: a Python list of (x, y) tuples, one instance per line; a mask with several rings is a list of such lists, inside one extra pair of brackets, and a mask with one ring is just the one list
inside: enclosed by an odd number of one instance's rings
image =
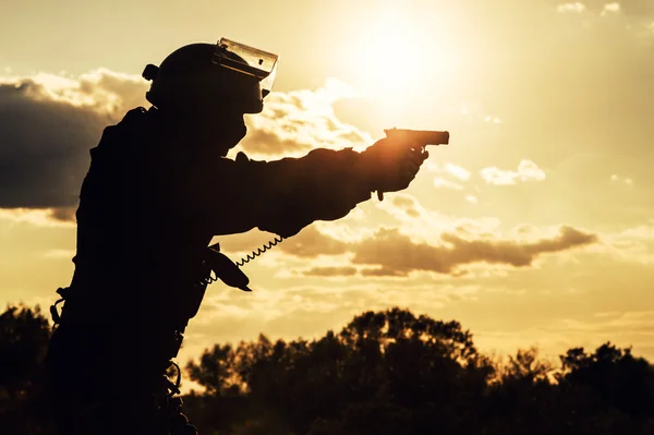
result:
[[(234, 149), (272, 160), (448, 130), (413, 184), (211, 285), (180, 360), (364, 310), (457, 319), (485, 352), (607, 340), (654, 359), (654, 1), (17, 1), (0, 13), (0, 302), (47, 307), (106, 125), (141, 72), (220, 37), (280, 55)], [(162, 238), (166, 234), (161, 234)], [(272, 234), (216, 239), (233, 259)]]

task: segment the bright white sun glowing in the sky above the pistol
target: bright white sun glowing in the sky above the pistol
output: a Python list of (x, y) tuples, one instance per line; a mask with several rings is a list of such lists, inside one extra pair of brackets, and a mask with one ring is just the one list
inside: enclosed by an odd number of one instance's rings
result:
[[(467, 52), (453, 13), (419, 9), (409, 2), (387, 3), (365, 15), (342, 58), (342, 80), (370, 105), (362, 117), (382, 122), (427, 122), (437, 110), (465, 95), (461, 74)], [(429, 114), (431, 113), (431, 114)]]

